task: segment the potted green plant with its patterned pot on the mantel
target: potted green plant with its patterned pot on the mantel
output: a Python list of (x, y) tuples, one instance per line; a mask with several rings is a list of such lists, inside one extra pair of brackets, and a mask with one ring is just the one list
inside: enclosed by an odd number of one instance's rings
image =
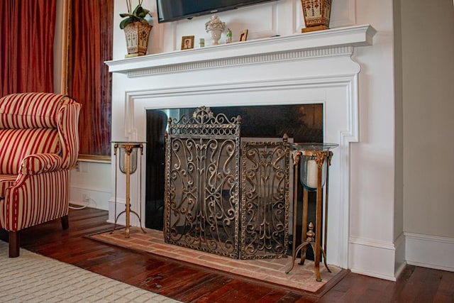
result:
[[(128, 48), (128, 55), (125, 57), (137, 57), (147, 54), (148, 37), (153, 26), (150, 22), (153, 17), (148, 9), (142, 7), (143, 0), (139, 0), (137, 6), (132, 11), (131, 0), (126, 0), (128, 6), (128, 13), (120, 13), (123, 21), (120, 23), (120, 28), (125, 31), (126, 45)], [(147, 17), (150, 18), (147, 18)]]

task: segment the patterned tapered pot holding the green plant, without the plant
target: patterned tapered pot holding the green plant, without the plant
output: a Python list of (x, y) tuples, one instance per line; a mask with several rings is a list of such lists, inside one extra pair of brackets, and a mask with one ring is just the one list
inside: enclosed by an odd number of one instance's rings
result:
[(126, 47), (128, 55), (125, 57), (137, 57), (147, 55), (148, 38), (153, 26), (143, 22), (129, 23), (125, 28)]

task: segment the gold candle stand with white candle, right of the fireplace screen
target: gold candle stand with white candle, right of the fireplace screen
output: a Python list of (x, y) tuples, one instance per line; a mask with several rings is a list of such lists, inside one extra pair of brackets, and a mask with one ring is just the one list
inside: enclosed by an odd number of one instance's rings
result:
[[(306, 248), (311, 246), (314, 251), (314, 272), (316, 280), (321, 281), (320, 274), (320, 259), (323, 255), (323, 263), (328, 272), (331, 270), (326, 264), (326, 227), (328, 220), (328, 172), (331, 165), (333, 152), (331, 148), (336, 148), (338, 145), (334, 143), (289, 143), (294, 148), (294, 211), (293, 211), (293, 246), (292, 246), (292, 265), (285, 273), (289, 273), (294, 268), (294, 262), (301, 250), (301, 261), (299, 264), (304, 264), (306, 260)], [(301, 216), (301, 240), (302, 243), (295, 248), (297, 241), (297, 188), (298, 188), (298, 169), (301, 171), (300, 181), (303, 185), (303, 214)], [(323, 192), (324, 189), (324, 192)], [(308, 209), (308, 192), (316, 192), (316, 223), (315, 231), (314, 224), (309, 223), (307, 218)], [(323, 199), (325, 211), (323, 214), (324, 222), (322, 222)], [(324, 226), (324, 230), (323, 230)], [(309, 227), (309, 231), (307, 228)], [(323, 248), (322, 248), (322, 233)]]

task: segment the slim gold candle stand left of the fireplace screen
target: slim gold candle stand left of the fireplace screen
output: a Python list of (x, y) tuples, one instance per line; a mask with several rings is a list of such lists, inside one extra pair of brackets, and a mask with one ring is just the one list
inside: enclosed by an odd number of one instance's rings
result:
[(142, 195), (142, 155), (143, 155), (143, 143), (140, 142), (116, 142), (114, 143), (114, 155), (115, 155), (115, 167), (117, 167), (117, 149), (120, 148), (120, 163), (119, 163), (119, 169), (121, 172), (126, 174), (126, 203), (125, 203), (125, 210), (121, 211), (120, 214), (116, 214), (116, 188), (117, 188), (117, 169), (115, 168), (115, 223), (114, 223), (114, 229), (111, 231), (113, 233), (116, 229), (116, 223), (118, 221), (118, 218), (121, 216), (121, 214), (125, 214), (126, 216), (126, 238), (129, 238), (130, 234), (130, 227), (131, 227), (131, 213), (135, 214), (135, 216), (138, 217), (139, 219), (139, 225), (140, 228), (142, 229), (143, 233), (145, 233), (145, 230), (142, 227), (142, 203), (140, 199), (139, 207), (140, 207), (140, 215), (131, 210), (131, 181), (130, 181), (130, 176), (137, 170), (137, 153), (138, 149), (140, 149), (140, 191), (139, 195), (141, 197)]

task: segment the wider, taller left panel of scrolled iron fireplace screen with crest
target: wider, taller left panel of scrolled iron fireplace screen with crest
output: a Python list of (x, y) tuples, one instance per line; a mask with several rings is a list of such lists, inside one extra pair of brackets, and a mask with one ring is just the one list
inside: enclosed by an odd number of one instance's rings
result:
[(238, 258), (240, 117), (169, 121), (165, 153), (165, 241)]

